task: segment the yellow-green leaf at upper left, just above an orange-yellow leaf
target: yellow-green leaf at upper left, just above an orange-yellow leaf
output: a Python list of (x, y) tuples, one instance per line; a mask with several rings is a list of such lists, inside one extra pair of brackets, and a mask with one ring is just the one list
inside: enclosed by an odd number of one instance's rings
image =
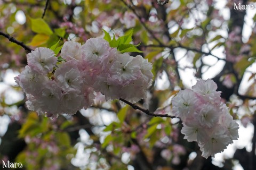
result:
[(46, 35), (52, 35), (52, 30), (49, 25), (42, 18), (30, 18), (31, 29), (36, 33), (44, 33)]

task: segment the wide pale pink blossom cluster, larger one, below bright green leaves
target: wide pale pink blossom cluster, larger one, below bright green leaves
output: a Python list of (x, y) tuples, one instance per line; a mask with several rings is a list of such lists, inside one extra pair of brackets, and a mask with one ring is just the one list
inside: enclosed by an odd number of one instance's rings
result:
[(95, 92), (106, 100), (135, 103), (146, 97), (153, 79), (148, 60), (121, 54), (102, 38), (91, 38), (84, 45), (67, 41), (61, 58), (45, 47), (27, 55), (28, 65), (15, 81), (26, 93), (31, 111), (47, 116), (75, 114), (92, 105)]

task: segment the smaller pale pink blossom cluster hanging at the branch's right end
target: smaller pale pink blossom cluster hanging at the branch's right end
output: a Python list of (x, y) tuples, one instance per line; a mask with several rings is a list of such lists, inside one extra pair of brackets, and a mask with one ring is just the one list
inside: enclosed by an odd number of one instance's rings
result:
[(214, 157), (238, 139), (238, 124), (216, 90), (213, 80), (200, 79), (192, 89), (181, 90), (172, 99), (173, 114), (181, 118), (184, 139), (196, 141), (205, 158)]

